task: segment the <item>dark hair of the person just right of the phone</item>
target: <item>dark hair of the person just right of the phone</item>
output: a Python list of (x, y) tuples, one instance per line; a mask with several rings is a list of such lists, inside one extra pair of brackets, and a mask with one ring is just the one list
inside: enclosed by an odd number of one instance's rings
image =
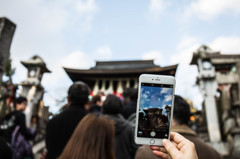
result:
[(187, 124), (190, 120), (191, 112), (189, 104), (181, 96), (175, 95), (173, 118), (178, 124)]

